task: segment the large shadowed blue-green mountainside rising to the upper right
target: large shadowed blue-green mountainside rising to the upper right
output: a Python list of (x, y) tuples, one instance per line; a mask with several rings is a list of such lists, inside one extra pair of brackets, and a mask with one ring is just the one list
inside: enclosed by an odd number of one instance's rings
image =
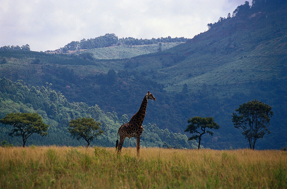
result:
[(256, 148), (279, 149), (287, 145), (286, 14), (286, 1), (245, 3), (184, 44), (121, 60), (0, 52), (6, 60), (0, 76), (34, 86), (49, 82), (70, 103), (97, 104), (128, 117), (150, 91), (157, 101), (149, 102), (144, 124), (183, 133), (190, 117), (214, 117), (221, 128), (201, 141), (214, 149), (247, 147), (231, 115), (257, 99), (271, 105), (274, 116), (272, 133)]

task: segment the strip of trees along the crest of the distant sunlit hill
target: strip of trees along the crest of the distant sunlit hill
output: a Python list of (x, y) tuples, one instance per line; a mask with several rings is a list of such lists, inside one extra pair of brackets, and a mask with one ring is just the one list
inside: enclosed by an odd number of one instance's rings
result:
[(61, 48), (63, 52), (67, 50), (79, 50), (79, 49), (94, 49), (94, 48), (103, 48), (110, 46), (121, 46), (121, 45), (151, 45), (158, 43), (174, 43), (174, 42), (186, 42), (188, 39), (181, 38), (171, 38), (170, 36), (166, 38), (152, 38), (152, 39), (135, 39), (133, 37), (128, 38), (118, 38), (115, 34), (106, 34), (104, 36), (100, 36), (94, 39), (82, 39), (79, 41), (72, 41), (65, 45), (65, 47)]

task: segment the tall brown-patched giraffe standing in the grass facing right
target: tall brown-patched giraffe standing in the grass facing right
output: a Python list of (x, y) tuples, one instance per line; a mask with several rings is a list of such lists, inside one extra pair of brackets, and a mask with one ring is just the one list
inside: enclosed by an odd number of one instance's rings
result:
[[(143, 132), (144, 128), (142, 127), (142, 123), (144, 121), (144, 117), (146, 115), (146, 107), (148, 105), (148, 99), (153, 99), (156, 101), (156, 98), (148, 91), (144, 100), (141, 103), (141, 107), (139, 111), (131, 117), (131, 120), (128, 123), (123, 124), (118, 131), (118, 139), (116, 141), (116, 148), (118, 153), (121, 152), (123, 147), (123, 143), (126, 137), (136, 137), (137, 138), (137, 157), (139, 157), (139, 143), (141, 139), (141, 133)], [(120, 135), (120, 142), (119, 142), (119, 135)]]

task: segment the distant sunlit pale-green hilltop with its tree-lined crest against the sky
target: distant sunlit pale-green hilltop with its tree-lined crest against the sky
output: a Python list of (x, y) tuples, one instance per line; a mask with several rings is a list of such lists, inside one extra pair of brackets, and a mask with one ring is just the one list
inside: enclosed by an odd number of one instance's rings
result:
[[(133, 37), (118, 38), (115, 34), (105, 34), (94, 39), (82, 39), (81, 41), (72, 41), (63, 48), (57, 50), (47, 50), (48, 54), (72, 54), (74, 57), (83, 59), (123, 59), (131, 58), (142, 54), (161, 52), (186, 42), (187, 38), (170, 36), (166, 38), (136, 39)], [(15, 49), (12, 46), (12, 50)], [(21, 50), (19, 46), (18, 49)], [(10, 48), (1, 47), (0, 51)]]

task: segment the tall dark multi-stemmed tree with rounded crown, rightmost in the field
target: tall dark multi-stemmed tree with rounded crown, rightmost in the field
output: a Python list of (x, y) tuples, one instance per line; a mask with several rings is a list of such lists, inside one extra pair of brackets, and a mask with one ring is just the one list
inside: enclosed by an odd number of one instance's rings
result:
[(235, 109), (238, 115), (232, 114), (234, 127), (243, 130), (242, 134), (247, 138), (250, 149), (254, 150), (257, 139), (271, 133), (268, 130), (270, 117), (274, 115), (271, 109), (268, 104), (255, 99), (239, 105), (239, 108)]

